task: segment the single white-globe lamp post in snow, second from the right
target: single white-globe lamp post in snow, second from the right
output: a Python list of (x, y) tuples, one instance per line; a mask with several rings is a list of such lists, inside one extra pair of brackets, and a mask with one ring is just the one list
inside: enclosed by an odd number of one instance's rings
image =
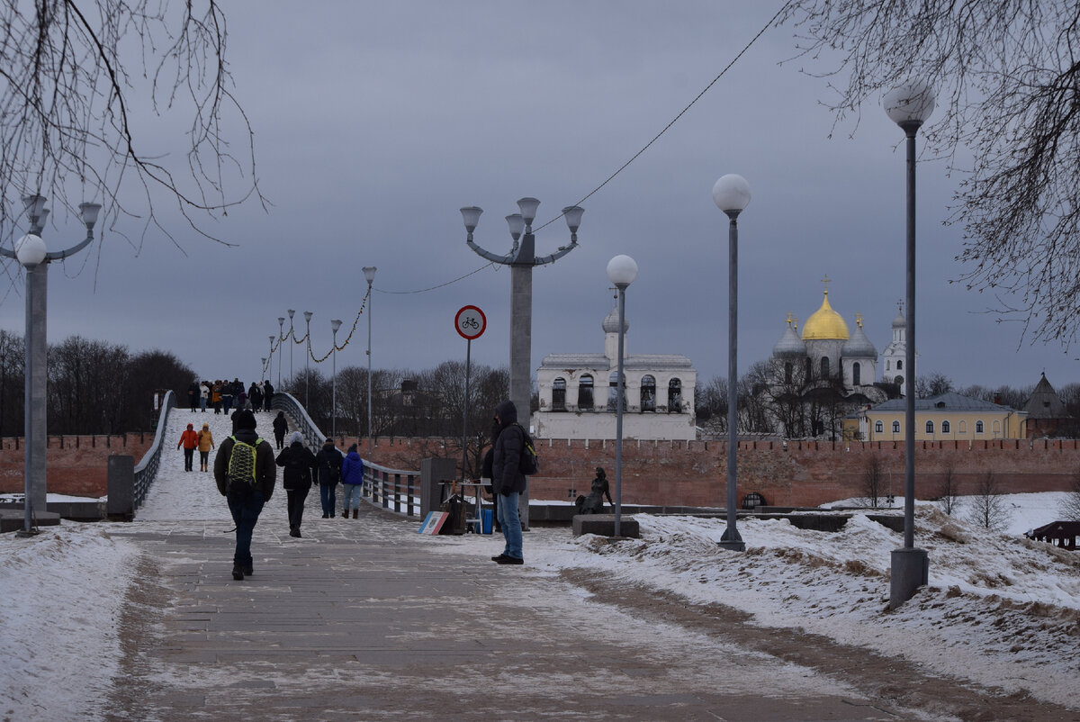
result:
[(739, 437), (737, 387), (739, 373), (739, 214), (750, 204), (750, 184), (734, 173), (721, 176), (713, 186), (716, 208), (727, 214), (728, 222), (728, 527), (720, 537), (720, 546), (732, 551), (745, 551), (746, 544), (735, 525), (738, 500), (735, 498), (735, 457)]

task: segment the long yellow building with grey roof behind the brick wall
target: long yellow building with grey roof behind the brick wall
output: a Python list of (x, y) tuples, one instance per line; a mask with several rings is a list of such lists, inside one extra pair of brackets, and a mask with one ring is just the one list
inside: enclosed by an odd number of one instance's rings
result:
[[(891, 399), (848, 414), (843, 438), (904, 441), (906, 399)], [(993, 441), (1027, 437), (1027, 412), (959, 393), (915, 400), (916, 441)]]

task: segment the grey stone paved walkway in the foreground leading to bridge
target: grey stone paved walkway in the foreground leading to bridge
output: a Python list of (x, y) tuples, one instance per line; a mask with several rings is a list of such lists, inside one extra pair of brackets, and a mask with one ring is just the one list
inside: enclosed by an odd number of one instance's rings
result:
[[(111, 720), (913, 719), (723, 637), (500, 566), (499, 538), (424, 537), (365, 509), (305, 538), (265, 514), (231, 578), (220, 521), (138, 522)], [(526, 535), (526, 553), (535, 530)]]

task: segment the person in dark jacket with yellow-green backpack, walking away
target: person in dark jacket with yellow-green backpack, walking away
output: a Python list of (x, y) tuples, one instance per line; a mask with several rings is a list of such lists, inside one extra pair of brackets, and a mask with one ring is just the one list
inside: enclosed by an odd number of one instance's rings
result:
[[(251, 469), (251, 483), (246, 481), (232, 481), (230, 483), (229, 467), (232, 459), (232, 450), (238, 443), (254, 446), (255, 457), (247, 460)], [(238, 457), (241, 456), (244, 447), (238, 450)], [(243, 459), (237, 459), (233, 466), (241, 466)], [(233, 469), (234, 473), (237, 472)], [(246, 474), (245, 474), (246, 477)], [(232, 578), (243, 579), (244, 575), (254, 572), (252, 559), (252, 534), (255, 532), (255, 522), (259, 520), (262, 505), (270, 500), (273, 494), (273, 485), (278, 479), (278, 467), (274, 465), (273, 447), (270, 442), (259, 439), (255, 432), (255, 414), (249, 411), (238, 411), (232, 415), (232, 436), (227, 438), (217, 447), (217, 456), (214, 457), (214, 480), (217, 482), (217, 491), (229, 502), (229, 512), (232, 513), (232, 521), (237, 524), (237, 550), (232, 556)]]

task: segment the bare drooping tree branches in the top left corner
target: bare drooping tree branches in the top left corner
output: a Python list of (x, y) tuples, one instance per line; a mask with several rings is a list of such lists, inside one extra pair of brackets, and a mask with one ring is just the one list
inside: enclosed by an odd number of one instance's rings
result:
[[(23, 195), (50, 197), (54, 211), (97, 200), (103, 226), (138, 218), (136, 245), (151, 229), (176, 242), (167, 228), (175, 222), (156, 211), (160, 193), (198, 232), (200, 219), (253, 193), (261, 200), (217, 0), (2, 0), (0, 28), (6, 236), (23, 212)], [(166, 112), (190, 118), (183, 152), (156, 145), (149, 132)], [(235, 197), (226, 192), (234, 185)]]

